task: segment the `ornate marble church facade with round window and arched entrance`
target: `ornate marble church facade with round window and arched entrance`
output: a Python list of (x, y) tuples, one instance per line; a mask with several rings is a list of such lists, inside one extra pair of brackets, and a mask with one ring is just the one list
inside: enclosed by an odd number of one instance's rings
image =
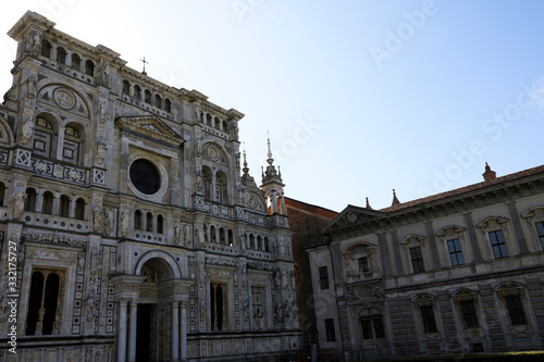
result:
[(239, 150), (244, 114), (54, 26), (27, 12), (9, 32), (18, 47), (0, 107), (0, 361), (297, 350), (270, 143), (258, 186)]

